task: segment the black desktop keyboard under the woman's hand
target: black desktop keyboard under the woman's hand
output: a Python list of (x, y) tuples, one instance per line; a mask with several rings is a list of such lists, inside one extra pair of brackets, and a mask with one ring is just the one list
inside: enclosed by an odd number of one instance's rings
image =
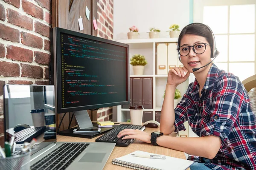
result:
[(116, 146), (122, 146), (127, 147), (129, 144), (131, 144), (135, 139), (124, 139), (117, 137), (117, 134), (124, 130), (124, 129), (139, 129), (139, 130), (145, 130), (145, 126), (140, 125), (128, 125), (128, 124), (121, 124), (115, 128), (113, 128), (111, 131), (105, 133), (103, 136), (100, 136), (95, 140), (95, 142), (111, 142), (116, 143)]

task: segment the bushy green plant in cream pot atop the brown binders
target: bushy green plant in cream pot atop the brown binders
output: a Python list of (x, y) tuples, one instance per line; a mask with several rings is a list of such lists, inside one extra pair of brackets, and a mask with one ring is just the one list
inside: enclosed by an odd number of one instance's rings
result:
[(144, 65), (147, 64), (145, 57), (141, 54), (135, 54), (130, 60), (130, 64), (133, 66), (134, 75), (143, 75)]

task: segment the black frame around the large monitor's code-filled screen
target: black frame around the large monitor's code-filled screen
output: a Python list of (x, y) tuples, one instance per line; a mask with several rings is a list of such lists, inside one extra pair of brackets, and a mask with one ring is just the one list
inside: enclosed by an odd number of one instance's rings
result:
[[(102, 103), (102, 104), (97, 104), (97, 105), (85, 105), (85, 106), (79, 106), (79, 107), (72, 107), (72, 108), (62, 108), (62, 101), (61, 101), (61, 91), (58, 89), (61, 89), (61, 33), (63, 34), (70, 34), (76, 37), (81, 37), (81, 38), (86, 38), (90, 40), (96, 40), (99, 42), (104, 42), (112, 45), (118, 45), (126, 48), (126, 100), (125, 101), (120, 101), (120, 102), (112, 102), (112, 103)], [(88, 110), (88, 109), (98, 109), (98, 108), (105, 108), (105, 107), (112, 107), (112, 106), (117, 106), (117, 105), (126, 105), (129, 104), (130, 100), (130, 74), (129, 74), (129, 45), (124, 44), (121, 42), (116, 42), (113, 40), (107, 40), (101, 37), (96, 37), (76, 31), (71, 31), (67, 30), (64, 28), (58, 28), (54, 27), (52, 28), (52, 38), (51, 40), (53, 41), (53, 49), (51, 50), (53, 53), (53, 70), (49, 69), (49, 79), (50, 76), (52, 75), (52, 71), (54, 71), (54, 86), (55, 86), (55, 113), (66, 113), (66, 112), (74, 112), (74, 111), (83, 111), (83, 110)], [(52, 62), (52, 61), (51, 61)], [(50, 73), (51, 72), (51, 73)]]

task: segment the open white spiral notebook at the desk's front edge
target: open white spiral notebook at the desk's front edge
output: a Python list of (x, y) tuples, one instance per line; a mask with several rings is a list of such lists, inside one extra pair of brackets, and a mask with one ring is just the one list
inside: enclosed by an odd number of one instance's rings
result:
[[(147, 153), (137, 150), (133, 153)], [(152, 159), (152, 158), (140, 158), (128, 155), (116, 158), (112, 160), (112, 164), (116, 164), (122, 167), (129, 167), (136, 170), (186, 170), (194, 162), (186, 159), (179, 159), (170, 156), (166, 156), (166, 159)], [(152, 155), (158, 155), (155, 153), (149, 153)]]

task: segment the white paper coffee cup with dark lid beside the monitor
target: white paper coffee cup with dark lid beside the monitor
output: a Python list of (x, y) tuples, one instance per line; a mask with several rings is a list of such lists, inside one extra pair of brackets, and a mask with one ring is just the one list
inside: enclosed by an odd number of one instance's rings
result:
[(130, 106), (130, 116), (132, 125), (142, 124), (143, 109), (143, 106)]

